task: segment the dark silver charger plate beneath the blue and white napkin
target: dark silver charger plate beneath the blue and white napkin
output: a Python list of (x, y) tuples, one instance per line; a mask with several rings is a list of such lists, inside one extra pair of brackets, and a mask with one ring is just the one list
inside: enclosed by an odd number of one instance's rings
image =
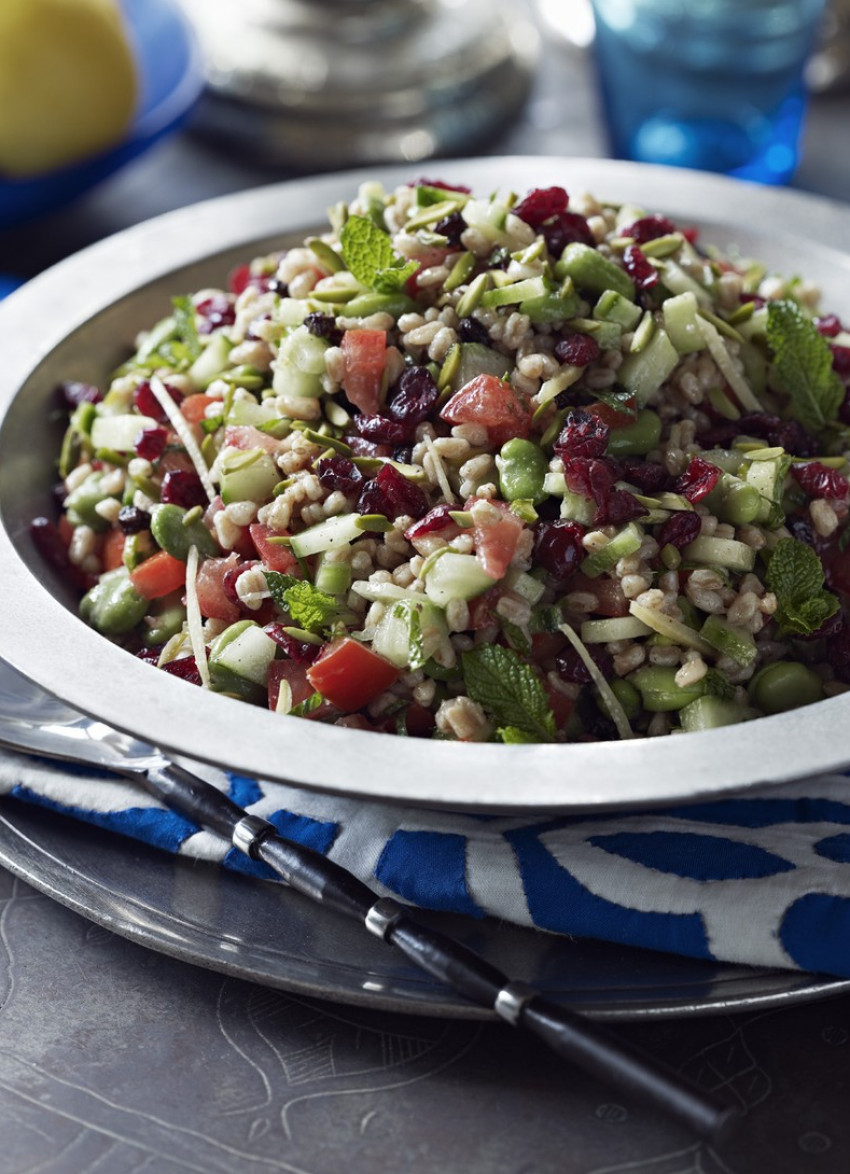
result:
[[(187, 861), (0, 802), (0, 864), (99, 925), (160, 953), (298, 994), (392, 1012), (490, 1019), (353, 924), (282, 885)], [(723, 966), (492, 919), (423, 915), (506, 973), (598, 1019), (720, 1014), (850, 991), (850, 980)]]

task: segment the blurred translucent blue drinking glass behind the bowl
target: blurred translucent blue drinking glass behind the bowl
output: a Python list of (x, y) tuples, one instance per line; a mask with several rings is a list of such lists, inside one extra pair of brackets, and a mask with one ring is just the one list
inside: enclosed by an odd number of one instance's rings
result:
[(618, 158), (787, 183), (824, 0), (593, 0)]

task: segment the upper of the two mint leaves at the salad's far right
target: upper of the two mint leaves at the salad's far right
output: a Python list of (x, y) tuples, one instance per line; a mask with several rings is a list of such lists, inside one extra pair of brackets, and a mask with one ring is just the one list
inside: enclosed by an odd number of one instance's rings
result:
[(819, 432), (837, 417), (844, 398), (829, 343), (795, 302), (784, 301), (768, 306), (768, 346), (794, 416), (809, 432)]

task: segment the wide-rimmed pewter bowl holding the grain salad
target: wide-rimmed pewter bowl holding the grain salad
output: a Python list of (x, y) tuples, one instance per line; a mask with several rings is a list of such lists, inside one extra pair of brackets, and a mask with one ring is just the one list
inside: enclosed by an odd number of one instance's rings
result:
[[(823, 290), (850, 317), (850, 208), (721, 177), (596, 160), (481, 158), (429, 163), (477, 191), (562, 184), (693, 223)], [(62, 379), (102, 383), (161, 318), (170, 297), (221, 285), (238, 262), (301, 241), (324, 209), (366, 178), (390, 188), (417, 169), (276, 184), (171, 212), (112, 237), (0, 305), (0, 655), (62, 700), (161, 748), (332, 792), (465, 810), (589, 810), (694, 801), (850, 763), (850, 694), (700, 734), (634, 742), (500, 745), (413, 738), (283, 720), (190, 688), (135, 660), (76, 616), (46, 567), (31, 520), (52, 510)]]

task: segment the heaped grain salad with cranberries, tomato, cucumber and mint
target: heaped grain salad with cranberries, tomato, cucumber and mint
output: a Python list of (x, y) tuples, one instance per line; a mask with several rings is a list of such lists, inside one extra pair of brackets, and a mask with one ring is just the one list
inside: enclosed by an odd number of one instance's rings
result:
[(559, 187), (364, 184), (60, 389), (83, 620), (294, 715), (701, 730), (850, 686), (850, 332), (805, 281)]

